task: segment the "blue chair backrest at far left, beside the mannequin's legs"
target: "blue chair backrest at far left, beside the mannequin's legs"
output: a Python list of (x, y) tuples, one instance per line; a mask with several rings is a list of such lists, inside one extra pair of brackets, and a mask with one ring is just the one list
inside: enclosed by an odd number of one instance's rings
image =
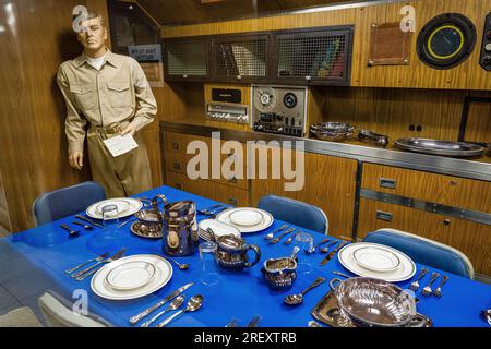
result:
[(84, 182), (45, 193), (34, 202), (37, 226), (85, 210), (92, 204), (105, 200), (104, 188), (96, 182)]

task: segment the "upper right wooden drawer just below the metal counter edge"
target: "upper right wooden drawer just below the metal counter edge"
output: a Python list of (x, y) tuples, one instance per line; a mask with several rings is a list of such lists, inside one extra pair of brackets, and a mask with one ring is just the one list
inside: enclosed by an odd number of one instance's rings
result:
[(452, 207), (491, 213), (491, 183), (364, 164), (362, 188)]

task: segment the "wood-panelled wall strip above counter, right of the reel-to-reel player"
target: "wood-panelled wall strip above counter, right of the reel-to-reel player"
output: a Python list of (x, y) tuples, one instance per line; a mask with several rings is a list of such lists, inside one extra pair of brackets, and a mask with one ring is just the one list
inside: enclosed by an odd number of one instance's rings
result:
[[(406, 88), (332, 88), (325, 121), (402, 137), (457, 140), (465, 92)], [(410, 131), (421, 125), (422, 131)]]

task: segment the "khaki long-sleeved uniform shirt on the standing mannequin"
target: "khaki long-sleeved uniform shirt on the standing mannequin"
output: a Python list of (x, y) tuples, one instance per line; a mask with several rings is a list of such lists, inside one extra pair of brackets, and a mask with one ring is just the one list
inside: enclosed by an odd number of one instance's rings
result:
[(60, 65), (57, 82), (67, 101), (69, 153), (83, 153), (87, 121), (96, 128), (131, 121), (140, 131), (157, 113), (148, 81), (131, 57), (108, 50), (106, 63), (97, 71), (82, 53)]

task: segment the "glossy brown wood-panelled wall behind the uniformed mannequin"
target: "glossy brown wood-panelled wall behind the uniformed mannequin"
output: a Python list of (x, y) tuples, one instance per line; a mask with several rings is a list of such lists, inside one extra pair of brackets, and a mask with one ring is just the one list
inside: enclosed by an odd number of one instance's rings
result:
[[(82, 51), (71, 31), (72, 10), (80, 4), (107, 19), (100, 0), (0, 0), (5, 28), (0, 35), (0, 176), (14, 232), (34, 227), (32, 205), (38, 195), (91, 179), (87, 166), (81, 172), (69, 166), (65, 107), (56, 84), (59, 64)], [(159, 185), (157, 120), (145, 137)]]

